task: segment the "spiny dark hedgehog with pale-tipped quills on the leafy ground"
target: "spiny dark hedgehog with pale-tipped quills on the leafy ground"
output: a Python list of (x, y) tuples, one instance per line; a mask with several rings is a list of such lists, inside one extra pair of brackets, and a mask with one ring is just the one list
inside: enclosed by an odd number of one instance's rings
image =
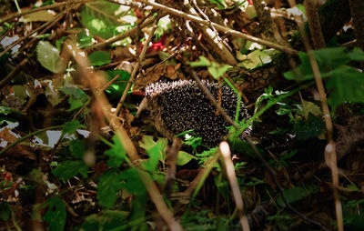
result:
[[(227, 85), (207, 80), (202, 80), (202, 84), (227, 115), (234, 118), (238, 95)], [(155, 126), (169, 141), (182, 132), (193, 130), (195, 136), (202, 137), (202, 144), (209, 147), (218, 146), (228, 133), (230, 125), (193, 80), (158, 81), (146, 86), (145, 95), (132, 126)], [(240, 108), (239, 120), (248, 119), (247, 107), (241, 104)], [(248, 134), (249, 129), (244, 132)]]

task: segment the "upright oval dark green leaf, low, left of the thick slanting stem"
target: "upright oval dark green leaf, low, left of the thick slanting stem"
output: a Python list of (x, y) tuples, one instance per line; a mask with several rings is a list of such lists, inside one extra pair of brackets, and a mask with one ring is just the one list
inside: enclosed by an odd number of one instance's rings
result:
[(97, 184), (97, 200), (100, 205), (106, 208), (114, 206), (120, 188), (120, 174), (116, 169), (111, 169), (100, 176)]

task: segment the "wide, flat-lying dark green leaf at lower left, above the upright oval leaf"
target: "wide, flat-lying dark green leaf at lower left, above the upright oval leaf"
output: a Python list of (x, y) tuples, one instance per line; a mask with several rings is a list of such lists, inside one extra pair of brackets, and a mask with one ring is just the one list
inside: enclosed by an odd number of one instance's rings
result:
[(86, 166), (84, 161), (66, 160), (62, 162), (59, 166), (56, 166), (56, 168), (52, 170), (52, 173), (56, 176), (59, 176), (59, 178), (62, 180), (67, 180), (78, 174), (86, 177), (87, 170), (88, 166)]

